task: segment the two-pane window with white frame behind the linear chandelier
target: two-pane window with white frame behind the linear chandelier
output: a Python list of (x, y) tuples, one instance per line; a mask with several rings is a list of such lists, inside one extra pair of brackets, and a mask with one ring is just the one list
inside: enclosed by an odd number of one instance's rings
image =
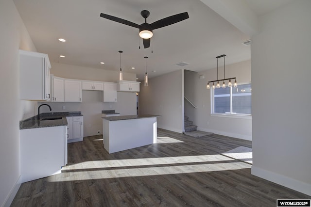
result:
[(251, 83), (239, 84), (237, 88), (215, 88), (212, 91), (212, 113), (236, 115), (251, 114)]

